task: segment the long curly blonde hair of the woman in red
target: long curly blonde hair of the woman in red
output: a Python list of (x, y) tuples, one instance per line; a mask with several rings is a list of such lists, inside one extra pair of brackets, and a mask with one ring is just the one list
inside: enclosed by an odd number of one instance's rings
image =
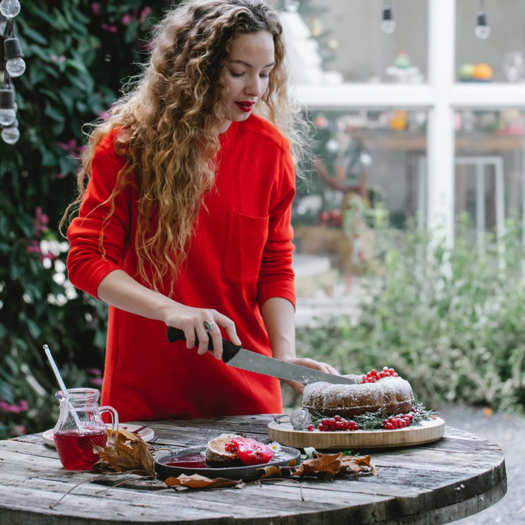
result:
[(202, 198), (214, 187), (214, 159), (227, 118), (221, 76), (229, 45), (240, 34), (261, 30), (274, 38), (275, 66), (256, 112), (287, 137), (297, 161), (304, 151), (304, 134), (296, 125), (300, 113), (288, 99), (282, 26), (276, 10), (263, 0), (188, 0), (172, 9), (154, 31), (149, 64), (133, 91), (119, 99), (110, 117), (94, 124), (88, 134), (78, 174), (79, 194), (61, 225), (82, 201), (97, 144), (119, 128), (115, 150), (129, 162), (104, 203), (110, 211), (102, 225), (100, 247), (104, 253), (104, 226), (114, 212), (115, 197), (133, 183), (138, 191), (138, 272), (154, 290), (169, 273), (172, 285), (176, 281)]

